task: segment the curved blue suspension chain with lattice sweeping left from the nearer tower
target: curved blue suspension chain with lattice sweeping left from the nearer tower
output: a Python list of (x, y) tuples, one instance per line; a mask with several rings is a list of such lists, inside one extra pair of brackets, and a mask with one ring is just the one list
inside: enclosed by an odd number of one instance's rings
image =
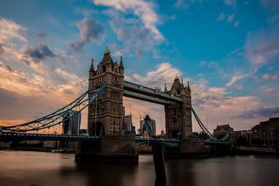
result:
[[(23, 123), (20, 125), (13, 126), (0, 126), (1, 131), (3, 132), (28, 132), (28, 131), (38, 131), (43, 130), (45, 128), (50, 128), (55, 125), (60, 125), (64, 121), (68, 121), (73, 116), (77, 115), (80, 111), (85, 109), (91, 102), (96, 100), (98, 96), (105, 91), (107, 84), (104, 84), (98, 91), (89, 96), (89, 98), (85, 98), (85, 96), (89, 93), (86, 91), (75, 101), (71, 102), (67, 106), (59, 109), (58, 111), (53, 112), (43, 118), (39, 118), (34, 121), (30, 121), (28, 123)], [(68, 114), (68, 117), (64, 117)]]

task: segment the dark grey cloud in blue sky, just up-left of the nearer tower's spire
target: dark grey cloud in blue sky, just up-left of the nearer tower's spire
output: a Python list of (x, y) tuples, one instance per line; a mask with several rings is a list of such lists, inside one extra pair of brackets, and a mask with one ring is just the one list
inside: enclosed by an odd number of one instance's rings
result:
[(80, 38), (77, 42), (70, 43), (70, 50), (73, 52), (80, 52), (84, 45), (101, 42), (105, 37), (105, 29), (93, 19), (77, 22), (77, 27), (80, 30)]

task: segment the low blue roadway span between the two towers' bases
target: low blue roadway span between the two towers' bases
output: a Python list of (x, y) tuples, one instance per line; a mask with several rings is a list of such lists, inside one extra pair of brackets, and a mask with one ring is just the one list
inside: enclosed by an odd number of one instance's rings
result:
[(179, 140), (178, 139), (155, 139), (155, 138), (136, 138), (135, 144), (153, 144), (160, 143), (165, 146), (171, 146), (174, 148), (179, 148)]

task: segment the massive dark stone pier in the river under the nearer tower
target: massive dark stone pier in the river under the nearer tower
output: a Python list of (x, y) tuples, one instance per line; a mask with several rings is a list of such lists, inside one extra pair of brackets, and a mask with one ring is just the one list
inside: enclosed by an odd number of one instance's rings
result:
[(75, 162), (138, 162), (133, 137), (100, 137), (100, 141), (79, 141)]

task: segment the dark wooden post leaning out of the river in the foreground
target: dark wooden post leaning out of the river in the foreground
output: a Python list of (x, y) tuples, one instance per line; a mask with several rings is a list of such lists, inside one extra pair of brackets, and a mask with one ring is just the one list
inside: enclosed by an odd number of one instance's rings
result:
[(163, 148), (160, 144), (155, 143), (152, 145), (152, 152), (156, 172), (155, 186), (165, 186), (167, 185), (167, 180), (165, 176), (165, 161)]

